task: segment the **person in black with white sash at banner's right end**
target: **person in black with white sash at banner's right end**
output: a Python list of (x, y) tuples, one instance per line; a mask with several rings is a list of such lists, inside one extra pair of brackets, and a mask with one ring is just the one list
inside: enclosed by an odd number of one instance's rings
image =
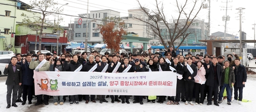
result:
[[(168, 55), (168, 53), (166, 55)], [(184, 74), (183, 66), (179, 63), (178, 57), (174, 57), (174, 60), (169, 68), (171, 71), (173, 71), (174, 73), (176, 73), (178, 75), (182, 76)], [(167, 102), (166, 104), (179, 105), (180, 104), (179, 103), (180, 94), (181, 94), (183, 88), (184, 88), (184, 80), (182, 79), (182, 77), (179, 79), (177, 76), (176, 98), (174, 99), (174, 96), (170, 97), (169, 103)]]

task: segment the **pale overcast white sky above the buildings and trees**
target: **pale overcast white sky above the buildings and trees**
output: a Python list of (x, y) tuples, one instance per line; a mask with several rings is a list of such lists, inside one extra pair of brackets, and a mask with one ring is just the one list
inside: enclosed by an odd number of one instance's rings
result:
[[(21, 0), (27, 4), (30, 4), (30, 0)], [(59, 3), (59, 7), (63, 4), (69, 3), (66, 6), (63, 6), (63, 13), (77, 16), (77, 14), (87, 13), (87, 0), (55, 0)], [(142, 6), (154, 10), (155, 0), (139, 0)], [(164, 3), (165, 13), (168, 18), (174, 16), (176, 13), (176, 2), (175, 0), (162, 0)], [(179, 2), (182, 2), (179, 0)], [(201, 2), (201, 0), (200, 0)], [(208, 1), (206, 0), (206, 3)], [(232, 35), (239, 36), (239, 14), (236, 8), (243, 7), (246, 8), (243, 10), (243, 23), (242, 23), (242, 31), (247, 33), (247, 40), (254, 39), (254, 21), (256, 20), (255, 12), (256, 8), (253, 0), (228, 0), (228, 10), (227, 15), (230, 16), (230, 21), (227, 21), (227, 33)], [(89, 0), (89, 13), (94, 10), (104, 10), (104, 9), (112, 9), (120, 12), (121, 16), (128, 16), (127, 10), (138, 8), (138, 2), (136, 0)], [(214, 32), (224, 32), (225, 22), (222, 21), (222, 16), (225, 15), (226, 11), (223, 10), (226, 7), (226, 0), (211, 0), (211, 13), (210, 13), (210, 23), (211, 23), (211, 31)], [(188, 8), (189, 9), (189, 8)], [(222, 10), (221, 10), (222, 9)], [(74, 22), (74, 16), (62, 16), (64, 19), (61, 22), (61, 25), (68, 26), (70, 20), (72, 23)], [(208, 22), (208, 9), (201, 9), (200, 14), (197, 16), (198, 18), (205, 19), (205, 22)], [(54, 18), (53, 18), (54, 19)], [(77, 21), (75, 21), (77, 22)]]

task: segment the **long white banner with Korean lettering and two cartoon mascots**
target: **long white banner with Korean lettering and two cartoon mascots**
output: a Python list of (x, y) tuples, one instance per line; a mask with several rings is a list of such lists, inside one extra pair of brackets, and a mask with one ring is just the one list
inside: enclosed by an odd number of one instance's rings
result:
[[(176, 96), (176, 73), (34, 72), (35, 95)], [(156, 77), (157, 74), (157, 77)]]

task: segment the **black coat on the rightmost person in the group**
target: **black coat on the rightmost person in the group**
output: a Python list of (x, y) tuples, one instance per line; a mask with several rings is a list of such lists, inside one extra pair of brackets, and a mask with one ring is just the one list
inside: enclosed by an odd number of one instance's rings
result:
[(234, 83), (234, 86), (236, 87), (245, 87), (243, 82), (246, 82), (247, 80), (247, 73), (244, 65), (240, 64), (239, 68), (234, 69), (234, 79), (236, 82)]

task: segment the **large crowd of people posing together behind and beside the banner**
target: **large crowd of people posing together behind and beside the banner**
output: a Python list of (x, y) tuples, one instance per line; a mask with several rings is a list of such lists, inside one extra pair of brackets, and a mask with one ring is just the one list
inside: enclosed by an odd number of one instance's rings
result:
[[(233, 55), (236, 59), (232, 60)], [(148, 49), (148, 53), (142, 54), (124, 54), (106, 52), (104, 55), (98, 55), (97, 51), (93, 51), (91, 55), (87, 52), (81, 54), (61, 54), (57, 57), (54, 53), (42, 54), (27, 54), (11, 57), (11, 62), (6, 65), (4, 74), (8, 74), (7, 85), (7, 107), (17, 107), (16, 102), (22, 102), (22, 105), (32, 104), (32, 97), (34, 95), (34, 71), (75, 71), (82, 65), (80, 72), (106, 72), (106, 73), (122, 73), (125, 72), (155, 72), (155, 71), (170, 71), (182, 76), (182, 79), (177, 77), (176, 96), (158, 96), (157, 103), (169, 105), (179, 105), (180, 101), (185, 104), (203, 105), (204, 99), (207, 97), (207, 105), (212, 104), (212, 97), (214, 105), (219, 106), (223, 100), (227, 99), (227, 104), (231, 105), (232, 91), (234, 92), (234, 100), (232, 103), (241, 104), (243, 98), (243, 87), (245, 87), (247, 74), (245, 67), (240, 64), (239, 57), (233, 53), (225, 56), (209, 56), (209, 55), (196, 55), (191, 54), (176, 55), (173, 48), (166, 50), (163, 57), (159, 52), (155, 54)], [(37, 68), (42, 60), (47, 61)], [(93, 66), (97, 63), (97, 68)], [(108, 65), (108, 66), (107, 66)], [(106, 69), (105, 69), (106, 68)], [(234, 88), (234, 89), (232, 89)], [(227, 96), (223, 96), (226, 91)], [(239, 95), (238, 95), (239, 91)], [(11, 103), (11, 93), (12, 103)], [(18, 96), (17, 96), (18, 94)], [(23, 94), (23, 96), (22, 96)], [(23, 101), (20, 99), (22, 96)], [(37, 95), (37, 102), (35, 106), (44, 102), (45, 105), (49, 104), (49, 98), (53, 98), (54, 105), (62, 105), (67, 96), (48, 96)], [(129, 104), (130, 96), (118, 95), (97, 95), (100, 103), (108, 102), (105, 98), (111, 98), (111, 102), (122, 102)], [(79, 101), (85, 100), (86, 104), (90, 101), (96, 103), (95, 95), (71, 95), (68, 96), (70, 105), (79, 104)], [(121, 101), (119, 100), (121, 99)], [(148, 98), (147, 96), (134, 96), (133, 103), (143, 104), (143, 99), (147, 99), (147, 103), (155, 103), (156, 99)]]

